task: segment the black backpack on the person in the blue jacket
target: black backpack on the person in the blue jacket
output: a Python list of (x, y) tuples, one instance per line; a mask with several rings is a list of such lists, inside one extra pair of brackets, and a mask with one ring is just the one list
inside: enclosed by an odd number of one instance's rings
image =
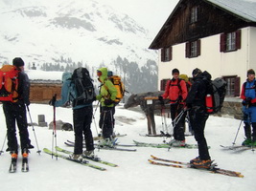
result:
[(75, 87), (75, 97), (73, 97), (73, 107), (78, 105), (91, 104), (96, 97), (93, 80), (86, 68), (78, 68), (74, 71), (71, 78)]

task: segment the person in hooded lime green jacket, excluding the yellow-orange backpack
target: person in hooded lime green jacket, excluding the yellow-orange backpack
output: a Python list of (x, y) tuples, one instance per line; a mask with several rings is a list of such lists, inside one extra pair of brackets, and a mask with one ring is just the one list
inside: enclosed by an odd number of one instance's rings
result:
[(103, 131), (104, 141), (101, 142), (103, 146), (112, 146), (113, 137), (113, 107), (115, 106), (115, 99), (117, 90), (113, 83), (108, 79), (107, 69), (101, 68), (97, 71), (98, 79), (101, 82), (100, 93), (96, 96), (101, 103), (101, 116), (99, 125)]

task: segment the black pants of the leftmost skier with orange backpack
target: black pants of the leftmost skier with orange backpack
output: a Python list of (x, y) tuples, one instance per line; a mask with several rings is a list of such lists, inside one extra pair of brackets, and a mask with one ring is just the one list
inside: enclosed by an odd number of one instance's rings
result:
[(4, 102), (3, 110), (6, 117), (8, 149), (10, 151), (18, 151), (18, 143), (16, 138), (15, 122), (19, 130), (21, 150), (29, 148), (31, 140), (28, 132), (27, 111), (22, 100), (15, 103)]

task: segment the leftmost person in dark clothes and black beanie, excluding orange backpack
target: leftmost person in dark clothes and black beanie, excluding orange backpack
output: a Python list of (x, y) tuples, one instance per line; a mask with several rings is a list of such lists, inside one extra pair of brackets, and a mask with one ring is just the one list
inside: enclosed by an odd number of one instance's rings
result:
[(16, 138), (16, 127), (19, 130), (20, 146), (22, 155), (29, 153), (28, 149), (33, 149), (28, 132), (26, 106), (30, 105), (30, 81), (27, 74), (24, 73), (24, 61), (20, 57), (12, 60), (12, 65), (20, 72), (18, 73), (18, 99), (16, 102), (3, 101), (3, 110), (6, 117), (8, 149), (12, 158), (17, 158), (18, 143)]

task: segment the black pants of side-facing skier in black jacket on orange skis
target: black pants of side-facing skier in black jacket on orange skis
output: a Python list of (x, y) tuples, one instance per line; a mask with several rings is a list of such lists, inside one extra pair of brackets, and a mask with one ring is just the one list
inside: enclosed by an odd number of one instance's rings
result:
[(198, 154), (201, 160), (211, 159), (208, 151), (207, 141), (204, 137), (204, 128), (208, 114), (205, 113), (203, 107), (193, 107), (189, 111), (190, 124), (194, 131), (195, 139), (198, 141)]

